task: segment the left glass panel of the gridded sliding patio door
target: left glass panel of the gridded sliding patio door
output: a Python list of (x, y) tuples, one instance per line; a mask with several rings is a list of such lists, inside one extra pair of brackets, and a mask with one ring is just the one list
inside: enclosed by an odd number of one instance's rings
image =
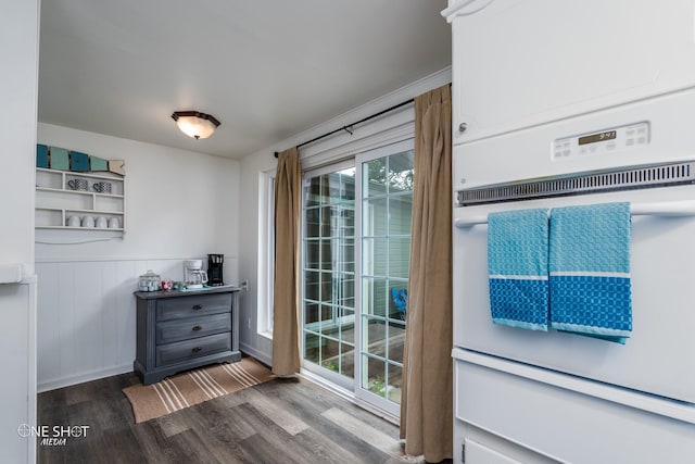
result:
[[(304, 180), (304, 361), (352, 388), (355, 371), (355, 168)], [(305, 363), (306, 364), (306, 363)], [(326, 372), (328, 371), (328, 372)], [(338, 374), (338, 375), (336, 375)]]

